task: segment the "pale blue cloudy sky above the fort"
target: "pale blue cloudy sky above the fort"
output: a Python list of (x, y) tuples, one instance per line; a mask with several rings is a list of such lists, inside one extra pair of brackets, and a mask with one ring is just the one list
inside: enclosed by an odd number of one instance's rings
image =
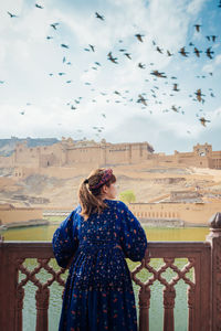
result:
[(1, 1), (0, 138), (221, 150), (219, 4)]

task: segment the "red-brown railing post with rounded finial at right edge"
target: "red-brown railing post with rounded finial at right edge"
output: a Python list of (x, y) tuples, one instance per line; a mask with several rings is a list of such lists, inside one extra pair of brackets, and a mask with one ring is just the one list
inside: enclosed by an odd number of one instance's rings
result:
[(210, 234), (207, 242), (211, 245), (211, 331), (221, 331), (221, 213), (210, 221)]

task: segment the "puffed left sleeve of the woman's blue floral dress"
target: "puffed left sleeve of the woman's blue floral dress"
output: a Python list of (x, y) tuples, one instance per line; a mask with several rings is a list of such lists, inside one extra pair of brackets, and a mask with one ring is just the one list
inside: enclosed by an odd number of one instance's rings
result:
[(66, 268), (77, 247), (77, 217), (76, 210), (74, 210), (53, 234), (52, 248), (57, 265)]

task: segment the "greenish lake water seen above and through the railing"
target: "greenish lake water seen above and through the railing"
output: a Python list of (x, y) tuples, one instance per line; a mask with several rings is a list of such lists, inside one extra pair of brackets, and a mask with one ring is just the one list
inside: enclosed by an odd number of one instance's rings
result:
[[(33, 227), (23, 227), (23, 228), (11, 228), (4, 232), (6, 241), (50, 241), (52, 239), (53, 233), (57, 225), (48, 225), (48, 226), (33, 226)], [(186, 227), (186, 228), (152, 228), (145, 227), (147, 239), (148, 241), (204, 241), (206, 236), (209, 234), (208, 227)], [(127, 264), (130, 270), (133, 270), (139, 263), (133, 263), (127, 259)], [(155, 258), (151, 259), (150, 265), (158, 269), (162, 265), (162, 259)], [(187, 259), (179, 258), (175, 260), (175, 265), (180, 269), (187, 264)], [(38, 265), (35, 259), (27, 259), (25, 267), (32, 270)], [(54, 269), (59, 269), (54, 259), (49, 264)], [(65, 276), (67, 275), (67, 271)], [(176, 276), (171, 269), (167, 269), (162, 276), (169, 281), (173, 276)], [(65, 276), (62, 276), (65, 279)], [(141, 270), (138, 274), (138, 278), (145, 281), (151, 275), (147, 270)], [(51, 276), (43, 269), (36, 275), (41, 281), (46, 281)], [(19, 279), (23, 279), (24, 275), (20, 274)], [(188, 278), (193, 279), (193, 273), (190, 270)], [(139, 287), (133, 284), (136, 303), (138, 307), (138, 290)], [(53, 282), (50, 293), (50, 309), (49, 309), (49, 330), (57, 330), (57, 324), (61, 314), (61, 305), (62, 305), (62, 290), (57, 282)], [(175, 330), (187, 331), (188, 329), (188, 308), (187, 308), (187, 285), (183, 280), (179, 280), (176, 285), (176, 306), (175, 306)], [(23, 330), (31, 331), (35, 330), (35, 290), (36, 287), (32, 282), (28, 282), (24, 287), (25, 289), (25, 299), (23, 308)], [(150, 331), (161, 331), (162, 330), (162, 318), (164, 318), (164, 308), (162, 308), (162, 289), (164, 286), (159, 281), (155, 281), (151, 286), (151, 299), (150, 299)], [(139, 311), (137, 309), (137, 316)]]

